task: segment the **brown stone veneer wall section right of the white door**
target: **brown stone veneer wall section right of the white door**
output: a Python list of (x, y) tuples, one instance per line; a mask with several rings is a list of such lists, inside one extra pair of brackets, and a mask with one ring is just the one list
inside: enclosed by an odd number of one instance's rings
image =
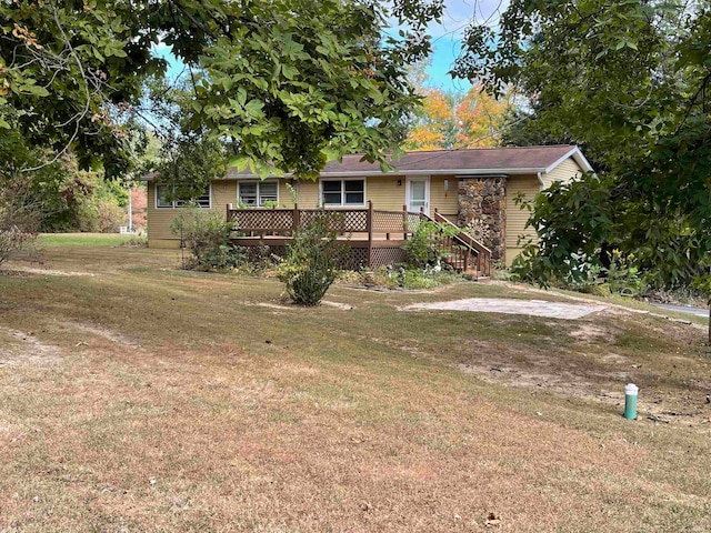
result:
[(459, 180), (457, 223), (491, 249), (491, 259), (505, 258), (507, 178), (481, 177)]

